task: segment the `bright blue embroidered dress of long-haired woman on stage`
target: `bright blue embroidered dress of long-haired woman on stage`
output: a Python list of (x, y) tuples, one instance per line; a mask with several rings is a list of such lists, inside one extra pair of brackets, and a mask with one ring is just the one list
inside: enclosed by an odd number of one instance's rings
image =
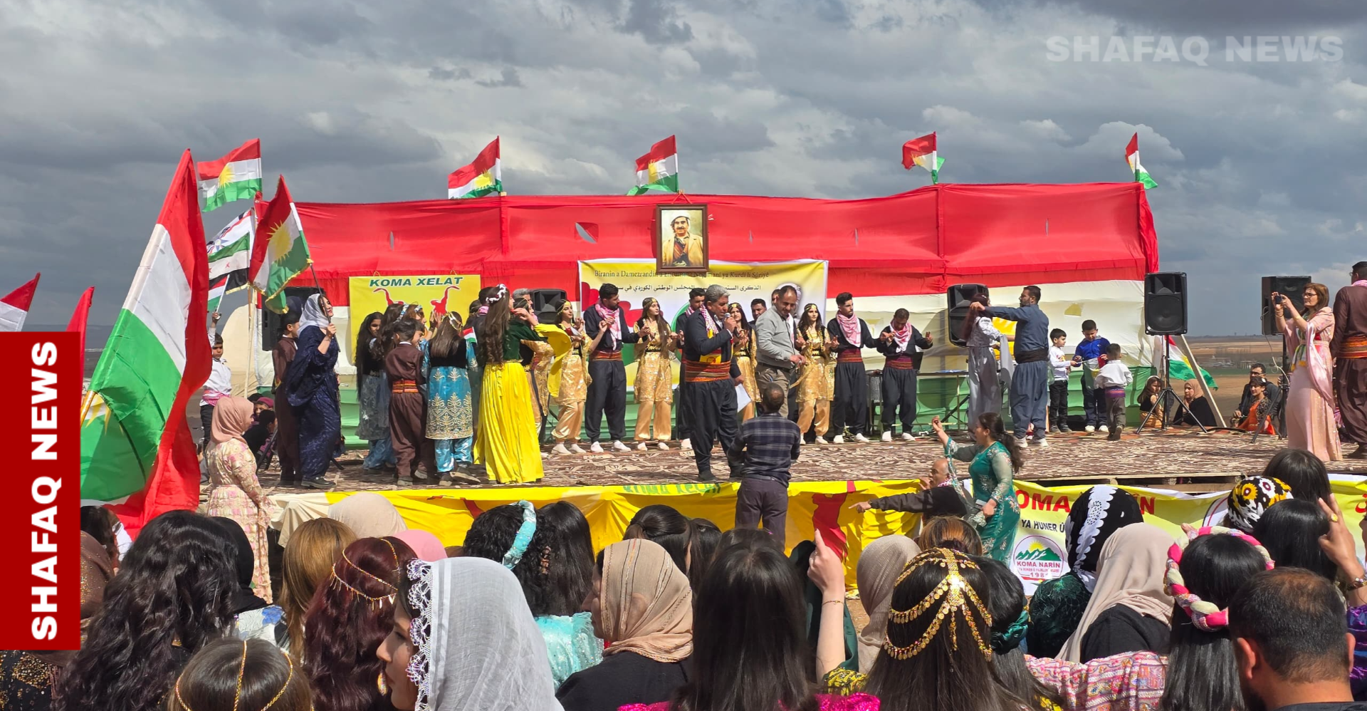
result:
[(432, 342), (422, 343), (422, 372), (427, 375), (427, 438), (436, 454), (436, 470), (447, 473), (457, 464), (474, 461), (474, 399), (470, 392), (469, 368), (474, 365), (474, 346), (468, 340), (455, 345), (459, 354), (446, 358), (432, 356)]

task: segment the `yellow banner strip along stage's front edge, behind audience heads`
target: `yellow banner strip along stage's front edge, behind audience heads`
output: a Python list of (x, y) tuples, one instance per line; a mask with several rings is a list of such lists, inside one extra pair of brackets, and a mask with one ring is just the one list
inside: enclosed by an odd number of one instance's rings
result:
[[(811, 540), (813, 531), (846, 554), (846, 580), (854, 585), (854, 566), (860, 551), (869, 541), (891, 533), (915, 536), (919, 514), (895, 511), (860, 513), (854, 503), (875, 496), (917, 491), (910, 481), (797, 481), (789, 487), (787, 531), (785, 550)], [(1021, 507), (1020, 528), (1009, 565), (1021, 577), (1027, 591), (1035, 584), (1058, 577), (1068, 570), (1064, 554), (1064, 521), (1073, 500), (1089, 487), (1047, 488), (1029, 481), (1016, 483)], [(1174, 536), (1182, 524), (1218, 525), (1223, 520), (1225, 492), (1189, 495), (1166, 489), (1122, 487), (1139, 500), (1144, 520)], [(663, 503), (689, 518), (707, 518), (723, 531), (734, 525), (737, 484), (662, 484), (645, 487), (525, 487), (483, 489), (413, 489), (380, 491), (398, 507), (409, 526), (431, 531), (446, 546), (459, 546), (470, 524), (495, 506), (526, 499), (537, 507), (567, 500), (589, 521), (593, 548), (601, 550), (622, 540), (636, 511)], [(1367, 514), (1367, 479), (1334, 477), (1334, 496), (1342, 507), (1351, 531), (1357, 531)], [(286, 509), (284, 518), (297, 521), (327, 515), (325, 505), (350, 492), (302, 494), (275, 496)], [(278, 524), (279, 525), (279, 524)], [(1359, 555), (1362, 550), (1359, 550)]]

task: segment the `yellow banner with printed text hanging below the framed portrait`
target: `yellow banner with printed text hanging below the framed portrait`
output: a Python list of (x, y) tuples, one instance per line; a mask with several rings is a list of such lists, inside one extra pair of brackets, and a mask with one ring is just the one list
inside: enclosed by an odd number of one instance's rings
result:
[[(768, 304), (774, 290), (785, 284), (797, 287), (798, 309), (804, 304), (816, 304), (823, 313), (823, 321), (826, 313), (824, 261), (712, 261), (705, 275), (655, 273), (655, 260), (580, 263), (580, 304), (585, 309), (597, 304), (597, 290), (606, 283), (617, 286), (629, 327), (634, 327), (641, 317), (641, 302), (645, 298), (659, 301), (664, 320), (677, 327), (678, 317), (688, 309), (689, 291), (707, 289), (711, 284), (722, 284), (731, 293), (731, 302), (745, 309), (746, 321), (753, 320), (752, 301), (759, 298)], [(627, 364), (626, 381), (634, 383), (634, 354), (627, 347), (622, 356)], [(674, 381), (678, 381), (678, 364), (674, 368)]]

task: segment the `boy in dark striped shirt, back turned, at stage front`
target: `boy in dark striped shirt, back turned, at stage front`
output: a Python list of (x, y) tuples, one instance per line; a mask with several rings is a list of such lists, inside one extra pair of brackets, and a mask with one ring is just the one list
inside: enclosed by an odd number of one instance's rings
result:
[(741, 487), (735, 492), (735, 528), (756, 528), (783, 544), (787, 521), (789, 469), (802, 447), (797, 424), (779, 414), (787, 391), (778, 383), (760, 386), (760, 416), (741, 422), (731, 446), (735, 459), (745, 462)]

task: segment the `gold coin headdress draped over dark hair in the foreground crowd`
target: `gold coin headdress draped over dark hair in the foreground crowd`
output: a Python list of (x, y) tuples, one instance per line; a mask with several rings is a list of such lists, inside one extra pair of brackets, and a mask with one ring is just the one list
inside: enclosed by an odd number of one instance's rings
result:
[[(895, 589), (898, 585), (912, 574), (913, 570), (925, 566), (938, 565), (945, 569), (945, 580), (940, 580), (935, 589), (930, 592), (921, 602), (916, 603), (909, 610), (889, 610), (889, 622), (895, 622), (905, 625), (917, 617), (921, 617), (935, 603), (939, 603), (939, 608), (935, 611), (935, 619), (931, 621), (930, 626), (919, 640), (906, 645), (898, 647), (893, 644), (893, 639), (884, 633), (883, 637), (883, 651), (889, 654), (893, 659), (910, 659), (920, 654), (925, 647), (935, 639), (935, 634), (940, 630), (945, 623), (945, 618), (949, 618), (949, 634), (950, 644), (954, 651), (958, 651), (958, 618), (962, 617), (964, 622), (968, 623), (968, 629), (973, 633), (973, 641), (977, 643), (977, 649), (983, 652), (983, 656), (991, 659), (992, 648), (987, 645), (987, 640), (983, 636), (983, 630), (977, 629), (977, 621), (973, 618), (973, 613), (977, 613), (983, 618), (983, 623), (987, 626), (987, 632), (992, 628), (992, 615), (983, 604), (983, 600), (977, 598), (977, 592), (973, 587), (968, 584), (964, 578), (962, 567), (977, 569), (977, 563), (969, 559), (966, 555), (946, 550), (946, 548), (932, 548), (925, 551), (916, 558), (912, 558), (902, 569), (902, 574), (897, 577), (893, 584)], [(891, 625), (889, 625), (891, 630)]]

